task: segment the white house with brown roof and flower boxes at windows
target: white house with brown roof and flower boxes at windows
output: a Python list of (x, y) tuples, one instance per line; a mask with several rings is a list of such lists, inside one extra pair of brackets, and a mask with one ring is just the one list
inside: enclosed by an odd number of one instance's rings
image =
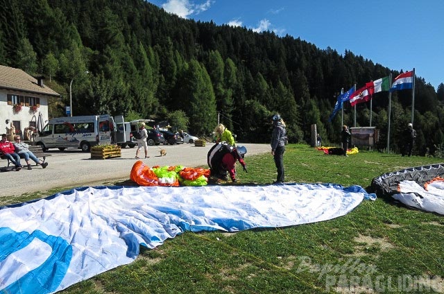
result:
[(6, 133), (8, 119), (22, 136), (29, 127), (37, 128), (39, 116), (42, 126), (46, 124), (48, 104), (60, 94), (43, 82), (43, 77), (33, 78), (22, 69), (0, 65), (0, 134)]

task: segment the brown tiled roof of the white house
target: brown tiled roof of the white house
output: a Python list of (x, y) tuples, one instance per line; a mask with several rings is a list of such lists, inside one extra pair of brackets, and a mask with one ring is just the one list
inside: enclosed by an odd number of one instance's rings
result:
[(0, 89), (9, 89), (34, 94), (42, 94), (49, 96), (60, 96), (50, 87), (43, 84), (39, 85), (37, 78), (26, 74), (22, 69), (13, 67), (5, 67), (0, 65)]

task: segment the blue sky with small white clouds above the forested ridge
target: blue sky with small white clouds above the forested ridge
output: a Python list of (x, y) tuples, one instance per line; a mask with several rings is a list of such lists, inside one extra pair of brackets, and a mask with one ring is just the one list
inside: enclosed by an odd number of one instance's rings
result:
[[(443, 0), (148, 0), (187, 19), (289, 34), (444, 83)], [(382, 77), (373, 77), (374, 79)], [(393, 77), (395, 78), (395, 77)], [(348, 87), (348, 85), (344, 85)], [(360, 85), (357, 85), (360, 87)]]

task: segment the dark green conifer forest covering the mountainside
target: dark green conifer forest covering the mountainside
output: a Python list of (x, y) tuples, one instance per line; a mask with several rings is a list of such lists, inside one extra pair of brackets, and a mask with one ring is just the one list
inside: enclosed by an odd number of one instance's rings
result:
[[(356, 116), (348, 102), (343, 117), (340, 111), (329, 122), (329, 116), (341, 89), (412, 70), (291, 35), (183, 19), (142, 0), (0, 0), (0, 6), (0, 64), (44, 76), (62, 94), (50, 116), (64, 115), (71, 85), (74, 115), (167, 120), (194, 135), (210, 135), (220, 121), (244, 142), (268, 143), (275, 113), (291, 143), (311, 142), (316, 124), (325, 146), (339, 144), (342, 119), (366, 127), (371, 117), (384, 150), (388, 92), (373, 96), (371, 116), (370, 102), (356, 105)], [(425, 155), (444, 143), (444, 84), (435, 90), (416, 76), (414, 96), (413, 153)], [(411, 90), (392, 93), (392, 152), (402, 147), (411, 106)]]

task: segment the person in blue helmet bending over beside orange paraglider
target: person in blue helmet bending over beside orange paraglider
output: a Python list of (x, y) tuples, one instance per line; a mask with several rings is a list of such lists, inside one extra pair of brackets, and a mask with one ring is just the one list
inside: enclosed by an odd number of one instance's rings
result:
[(244, 171), (247, 172), (244, 162), (244, 155), (247, 152), (245, 146), (234, 148), (226, 142), (215, 144), (207, 155), (207, 163), (210, 166), (211, 175), (221, 180), (228, 180), (228, 175), (232, 182), (236, 180), (236, 162), (239, 161)]

